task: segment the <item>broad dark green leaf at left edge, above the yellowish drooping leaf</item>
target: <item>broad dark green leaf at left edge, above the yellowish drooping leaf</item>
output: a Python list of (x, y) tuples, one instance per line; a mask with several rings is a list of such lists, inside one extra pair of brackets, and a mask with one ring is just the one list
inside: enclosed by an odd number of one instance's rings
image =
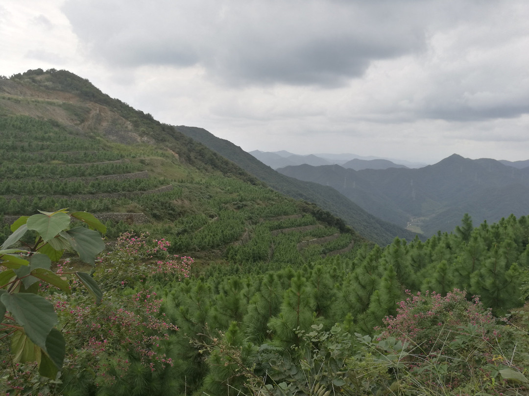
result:
[(46, 339), (57, 323), (53, 304), (32, 293), (2, 293), (0, 301), (13, 318), (24, 328), (34, 344), (45, 348)]

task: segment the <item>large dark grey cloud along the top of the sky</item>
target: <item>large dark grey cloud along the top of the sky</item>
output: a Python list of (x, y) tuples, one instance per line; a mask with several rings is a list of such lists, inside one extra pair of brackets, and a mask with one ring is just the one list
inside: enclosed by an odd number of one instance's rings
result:
[(372, 60), (424, 48), (423, 22), (408, 2), (145, 4), (69, 0), (63, 11), (93, 55), (111, 64), (200, 65), (234, 85), (338, 86)]

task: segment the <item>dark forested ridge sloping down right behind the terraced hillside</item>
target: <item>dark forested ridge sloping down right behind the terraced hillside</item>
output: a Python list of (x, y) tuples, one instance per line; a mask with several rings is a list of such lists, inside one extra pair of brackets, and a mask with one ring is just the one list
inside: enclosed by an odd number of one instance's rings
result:
[[(347, 197), (334, 188), (319, 183), (299, 181), (296, 178), (286, 177), (261, 163), (257, 158), (230, 141), (215, 137), (203, 128), (175, 127), (177, 131), (186, 136), (203, 143), (221, 156), (230, 159), (246, 172), (256, 176), (262, 182), (275, 190), (295, 199), (314, 202), (320, 208), (342, 218), (346, 224), (359, 232), (364, 237), (377, 242), (379, 245), (387, 245), (396, 236), (411, 240), (415, 233), (405, 230), (403, 227), (395, 226), (388, 221), (382, 221), (359, 205), (351, 202)], [(331, 165), (332, 167), (332, 165)]]

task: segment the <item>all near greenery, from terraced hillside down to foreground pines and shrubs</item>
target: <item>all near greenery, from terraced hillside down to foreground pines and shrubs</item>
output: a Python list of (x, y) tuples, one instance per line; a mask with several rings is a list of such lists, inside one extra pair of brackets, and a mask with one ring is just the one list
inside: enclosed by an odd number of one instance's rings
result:
[(0, 394), (528, 393), (529, 217), (377, 244), (68, 72), (0, 94)]

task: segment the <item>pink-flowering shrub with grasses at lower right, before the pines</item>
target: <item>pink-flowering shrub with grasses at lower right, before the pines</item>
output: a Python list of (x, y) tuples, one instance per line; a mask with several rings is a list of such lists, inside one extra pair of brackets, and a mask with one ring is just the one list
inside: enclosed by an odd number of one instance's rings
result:
[(397, 315), (384, 319), (381, 334), (366, 342), (382, 355), (375, 360), (394, 367), (399, 391), (501, 394), (510, 386), (507, 380), (522, 375), (516, 346), (507, 341), (511, 330), (497, 325), (477, 297), (468, 301), (457, 289), (444, 297), (408, 295)]

